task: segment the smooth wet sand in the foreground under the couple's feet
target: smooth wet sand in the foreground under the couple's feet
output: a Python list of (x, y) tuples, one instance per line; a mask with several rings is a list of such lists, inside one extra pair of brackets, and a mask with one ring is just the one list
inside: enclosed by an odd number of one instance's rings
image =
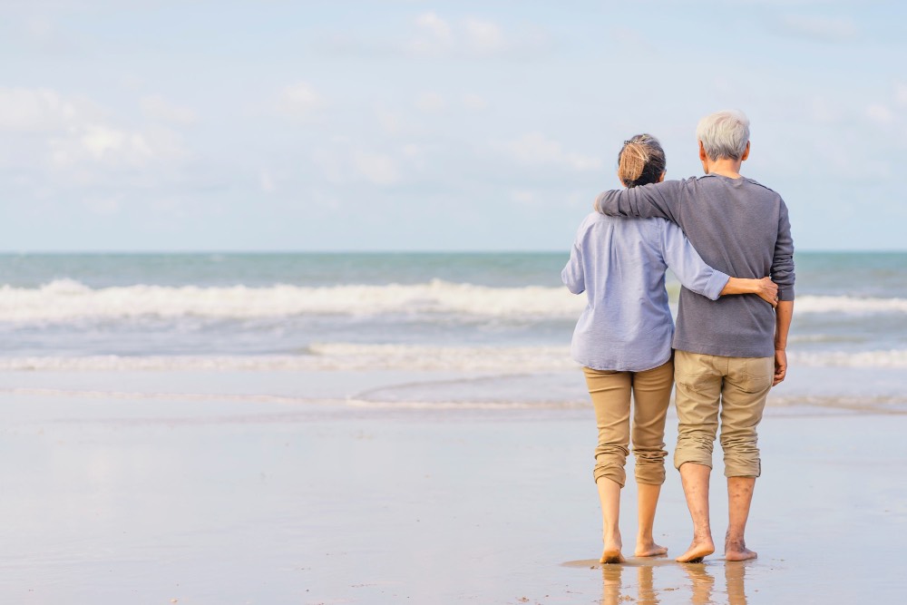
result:
[[(147, 385), (128, 376), (79, 375), (93, 392), (78, 396), (72, 376), (17, 379), (29, 390), (0, 393), (0, 598), (98, 605), (902, 599), (907, 415), (770, 408), (747, 535), (758, 560), (726, 563), (719, 548), (698, 565), (630, 558), (602, 566), (591, 409), (371, 409), (228, 397), (211, 386), (226, 381), (244, 392), (232, 383), (245, 380), (256, 393), (267, 379), (141, 378), (195, 381), (176, 390), (208, 393), (182, 398), (133, 397)], [(66, 380), (69, 394), (60, 395), (52, 383)], [(48, 390), (36, 390), (38, 383)], [(727, 522), (720, 473), (717, 455), (719, 544)], [(623, 503), (629, 543), (632, 483)], [(673, 470), (656, 536), (670, 556), (689, 542)]]

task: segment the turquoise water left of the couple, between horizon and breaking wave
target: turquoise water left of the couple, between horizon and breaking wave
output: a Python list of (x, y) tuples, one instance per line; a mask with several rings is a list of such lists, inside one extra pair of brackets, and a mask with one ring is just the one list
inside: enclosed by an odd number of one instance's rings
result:
[(0, 284), (36, 288), (73, 279), (91, 288), (417, 284), (433, 278), (483, 286), (561, 285), (567, 253), (0, 255)]

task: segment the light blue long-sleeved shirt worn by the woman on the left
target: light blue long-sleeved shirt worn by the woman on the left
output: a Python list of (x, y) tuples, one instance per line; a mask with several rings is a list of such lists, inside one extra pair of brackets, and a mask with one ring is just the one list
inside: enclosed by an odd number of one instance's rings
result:
[(727, 284), (727, 275), (703, 262), (668, 220), (598, 212), (586, 217), (561, 272), (573, 294), (586, 292), (586, 308), (573, 331), (573, 359), (596, 370), (629, 372), (667, 362), (674, 335), (668, 268), (684, 287), (712, 300)]

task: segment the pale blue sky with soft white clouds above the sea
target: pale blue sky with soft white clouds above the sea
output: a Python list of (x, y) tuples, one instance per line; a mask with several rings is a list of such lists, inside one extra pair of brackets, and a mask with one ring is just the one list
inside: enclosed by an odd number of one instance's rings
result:
[(0, 0), (0, 250), (563, 250), (703, 115), (797, 249), (907, 249), (907, 3)]

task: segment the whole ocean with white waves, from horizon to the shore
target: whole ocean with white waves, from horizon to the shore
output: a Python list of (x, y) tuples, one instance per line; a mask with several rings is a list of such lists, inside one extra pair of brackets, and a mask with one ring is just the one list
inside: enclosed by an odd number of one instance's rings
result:
[[(0, 255), (0, 371), (7, 381), (24, 372), (299, 372), (329, 381), (393, 371), (424, 380), (365, 399), (588, 405), (569, 355), (585, 299), (561, 286), (566, 260), (566, 252)], [(803, 252), (796, 274), (790, 378), (775, 405), (907, 411), (907, 253)], [(676, 301), (677, 281), (668, 288)]]

